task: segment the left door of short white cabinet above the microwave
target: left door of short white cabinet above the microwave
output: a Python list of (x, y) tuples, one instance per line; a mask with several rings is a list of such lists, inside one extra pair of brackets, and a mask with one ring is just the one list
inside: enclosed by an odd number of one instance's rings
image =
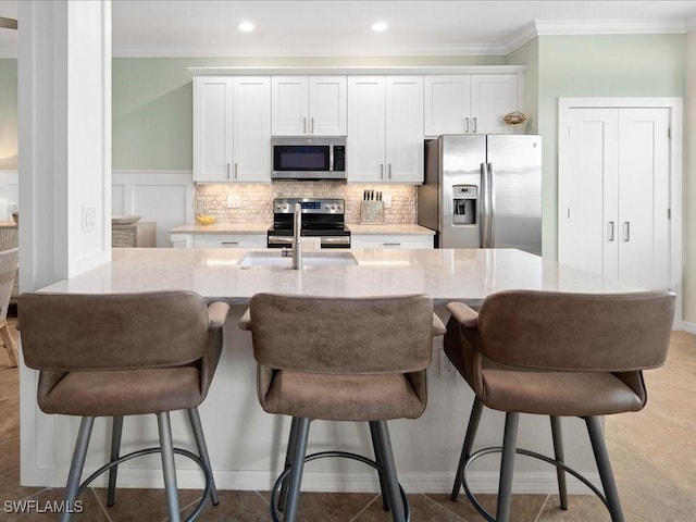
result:
[(273, 76), (272, 134), (298, 136), (308, 133), (309, 79), (307, 76)]

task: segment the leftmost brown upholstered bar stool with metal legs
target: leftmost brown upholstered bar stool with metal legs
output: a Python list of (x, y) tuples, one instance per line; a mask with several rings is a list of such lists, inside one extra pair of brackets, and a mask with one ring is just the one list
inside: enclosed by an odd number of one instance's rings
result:
[[(108, 504), (114, 502), (117, 465), (160, 452), (170, 521), (178, 521), (174, 453), (196, 461), (206, 475), (207, 498), (217, 504), (198, 406), (208, 394), (222, 349), (229, 307), (208, 306), (192, 291), (111, 295), (27, 293), (18, 298), (22, 352), (40, 370), (38, 405), (46, 413), (82, 417), (64, 499), (71, 508), (82, 490), (109, 470)], [(174, 448), (170, 411), (187, 410), (198, 455)], [(120, 457), (125, 415), (156, 413), (160, 447)], [(96, 417), (111, 417), (111, 460), (79, 483)]]

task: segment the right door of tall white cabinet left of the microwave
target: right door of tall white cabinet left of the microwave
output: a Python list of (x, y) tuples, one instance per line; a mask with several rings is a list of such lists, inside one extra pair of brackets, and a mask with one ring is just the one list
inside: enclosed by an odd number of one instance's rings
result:
[(235, 182), (271, 181), (271, 78), (234, 78)]

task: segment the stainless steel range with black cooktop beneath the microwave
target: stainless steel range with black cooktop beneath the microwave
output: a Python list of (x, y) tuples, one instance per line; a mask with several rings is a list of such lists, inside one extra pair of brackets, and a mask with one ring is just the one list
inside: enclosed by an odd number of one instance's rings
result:
[(346, 206), (334, 198), (276, 198), (273, 200), (273, 226), (268, 232), (268, 247), (293, 246), (295, 203), (300, 203), (301, 237), (319, 238), (321, 248), (350, 248), (346, 228)]

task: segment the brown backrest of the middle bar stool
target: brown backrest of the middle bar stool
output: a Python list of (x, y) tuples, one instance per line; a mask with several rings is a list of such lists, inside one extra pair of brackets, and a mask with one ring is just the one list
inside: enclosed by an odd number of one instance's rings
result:
[(328, 374), (418, 372), (431, 363), (433, 302), (423, 295), (328, 298), (258, 294), (257, 361)]

